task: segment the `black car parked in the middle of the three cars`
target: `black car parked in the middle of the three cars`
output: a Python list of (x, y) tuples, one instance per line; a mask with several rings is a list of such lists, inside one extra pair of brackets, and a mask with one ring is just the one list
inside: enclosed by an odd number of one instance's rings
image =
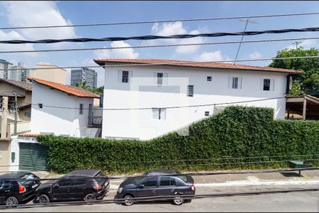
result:
[(74, 170), (38, 187), (33, 202), (102, 200), (109, 188), (108, 178), (101, 170)]

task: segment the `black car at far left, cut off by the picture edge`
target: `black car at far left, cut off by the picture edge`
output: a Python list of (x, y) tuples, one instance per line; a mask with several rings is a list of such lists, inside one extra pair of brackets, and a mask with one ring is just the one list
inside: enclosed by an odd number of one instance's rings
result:
[(28, 172), (0, 175), (0, 204), (16, 205), (32, 199), (40, 178)]

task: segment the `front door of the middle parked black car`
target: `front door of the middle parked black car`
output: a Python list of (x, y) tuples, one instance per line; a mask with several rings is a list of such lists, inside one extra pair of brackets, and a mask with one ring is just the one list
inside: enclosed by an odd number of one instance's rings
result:
[(71, 188), (74, 180), (72, 178), (62, 178), (52, 185), (53, 200), (72, 200)]

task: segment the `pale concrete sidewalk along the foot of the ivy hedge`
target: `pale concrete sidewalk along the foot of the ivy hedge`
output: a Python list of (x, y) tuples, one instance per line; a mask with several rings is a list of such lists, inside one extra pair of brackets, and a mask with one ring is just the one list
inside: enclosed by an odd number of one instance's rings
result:
[[(215, 171), (217, 172), (217, 171)], [(228, 172), (228, 171), (218, 171)], [(239, 172), (239, 171), (237, 171)], [(36, 173), (40, 178), (58, 178), (61, 175), (50, 173)], [(135, 176), (114, 175), (116, 177)], [(242, 186), (274, 186), (274, 185), (317, 185), (319, 186), (319, 170), (303, 170), (301, 177), (298, 171), (286, 171), (281, 173), (246, 173), (194, 176), (196, 187), (242, 187)], [(123, 180), (111, 180), (110, 190), (117, 190)]]

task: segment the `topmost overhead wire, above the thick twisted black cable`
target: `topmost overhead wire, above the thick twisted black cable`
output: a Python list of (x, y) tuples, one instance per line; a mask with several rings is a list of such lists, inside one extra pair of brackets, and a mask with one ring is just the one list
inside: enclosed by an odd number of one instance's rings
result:
[(16, 27), (3, 27), (0, 30), (13, 30), (13, 29), (35, 29), (35, 28), (69, 28), (69, 27), (86, 27), (86, 26), (113, 26), (113, 25), (130, 25), (130, 24), (142, 24), (142, 23), (169, 23), (176, 21), (218, 21), (240, 18), (272, 18), (283, 16), (308, 16), (317, 15), (319, 12), (314, 13), (286, 13), (286, 14), (273, 14), (273, 15), (259, 15), (259, 16), (237, 16), (237, 17), (219, 17), (219, 18), (185, 18), (185, 19), (173, 19), (173, 20), (154, 20), (154, 21), (130, 21), (130, 22), (114, 22), (114, 23), (84, 23), (74, 25), (52, 25), (52, 26), (16, 26)]

